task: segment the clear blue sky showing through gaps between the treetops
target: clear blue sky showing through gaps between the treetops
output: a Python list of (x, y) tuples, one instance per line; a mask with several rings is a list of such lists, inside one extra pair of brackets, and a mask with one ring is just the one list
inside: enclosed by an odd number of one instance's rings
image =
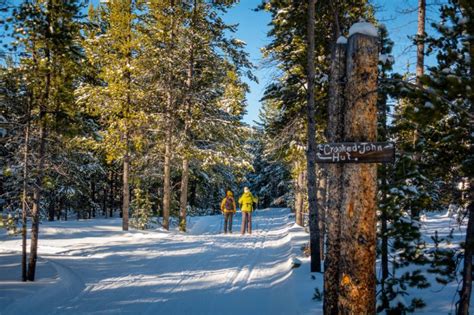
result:
[[(430, 0), (427, 2), (430, 3)], [(249, 82), (251, 91), (247, 95), (247, 115), (244, 117), (244, 121), (252, 125), (255, 120), (258, 120), (258, 113), (261, 107), (259, 100), (272, 74), (272, 69), (261, 66), (262, 56), (260, 48), (270, 41), (267, 38), (270, 14), (253, 11), (260, 3), (261, 0), (241, 0), (224, 16), (228, 23), (239, 24), (235, 36), (247, 43), (250, 59), (257, 66), (255, 74), (259, 79), (259, 83)], [(408, 67), (410, 71), (414, 71), (416, 52), (409, 36), (413, 36), (417, 31), (417, 11), (414, 10), (410, 13), (402, 11), (416, 8), (418, 0), (374, 0), (372, 3), (377, 8), (377, 19), (380, 23), (384, 23), (387, 26), (390, 37), (395, 42), (393, 51), (395, 57), (394, 70), (406, 72)], [(426, 27), (428, 33), (430, 33), (431, 28), (429, 25), (433, 18), (436, 19), (439, 15), (438, 8), (438, 6), (428, 6), (427, 8)], [(433, 59), (427, 58), (426, 62), (433, 62)]]

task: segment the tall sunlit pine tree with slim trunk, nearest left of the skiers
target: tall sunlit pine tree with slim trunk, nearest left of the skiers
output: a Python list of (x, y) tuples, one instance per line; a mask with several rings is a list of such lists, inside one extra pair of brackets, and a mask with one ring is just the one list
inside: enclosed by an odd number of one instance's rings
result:
[[(226, 98), (228, 104), (227, 110), (229, 114), (224, 121), (230, 119), (241, 118), (243, 94), (245, 90), (243, 84), (239, 81), (241, 71), (251, 68), (251, 64), (246, 54), (242, 51), (244, 43), (236, 39), (228, 39), (225, 31), (233, 31), (226, 25), (218, 12), (222, 12), (226, 8), (233, 5), (234, 1), (228, 1), (225, 4), (207, 4), (201, 0), (192, 1), (188, 10), (187, 20), (189, 27), (184, 29), (185, 45), (188, 49), (188, 65), (185, 86), (183, 87), (184, 101), (178, 104), (180, 108), (180, 124), (183, 136), (181, 137), (181, 146), (178, 148), (182, 159), (181, 174), (181, 193), (180, 193), (180, 228), (186, 229), (186, 208), (188, 199), (188, 177), (189, 163), (192, 151), (196, 144), (190, 139), (202, 126), (193, 126), (193, 122), (198, 121), (198, 116), (210, 115), (215, 116), (215, 111), (209, 105), (218, 105), (215, 97), (210, 94), (211, 91), (224, 89), (223, 97)], [(187, 39), (187, 44), (186, 44)], [(228, 57), (221, 57), (219, 50), (226, 52)], [(200, 60), (199, 63), (196, 60)], [(216, 66), (219, 65), (220, 69)], [(225, 78), (227, 77), (227, 78)], [(253, 78), (250, 76), (250, 78)], [(223, 79), (223, 81), (222, 81)], [(224, 82), (226, 86), (222, 86), (219, 82)], [(237, 102), (237, 106), (231, 102)], [(210, 110), (211, 109), (211, 110)], [(210, 126), (214, 126), (210, 123)], [(232, 124), (227, 125), (233, 129)], [(227, 128), (229, 129), (229, 128)], [(228, 136), (230, 133), (228, 133)], [(229, 139), (230, 140), (230, 139)]]

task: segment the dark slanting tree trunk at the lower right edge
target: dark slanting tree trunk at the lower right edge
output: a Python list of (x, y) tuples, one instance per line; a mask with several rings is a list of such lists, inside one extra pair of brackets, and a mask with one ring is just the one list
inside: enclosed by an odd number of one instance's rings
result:
[(469, 314), (469, 303), (472, 291), (472, 258), (474, 252), (474, 187), (470, 183), (470, 204), (467, 207), (469, 219), (467, 221), (466, 242), (464, 245), (464, 269), (462, 278), (462, 289), (459, 292), (457, 315)]

